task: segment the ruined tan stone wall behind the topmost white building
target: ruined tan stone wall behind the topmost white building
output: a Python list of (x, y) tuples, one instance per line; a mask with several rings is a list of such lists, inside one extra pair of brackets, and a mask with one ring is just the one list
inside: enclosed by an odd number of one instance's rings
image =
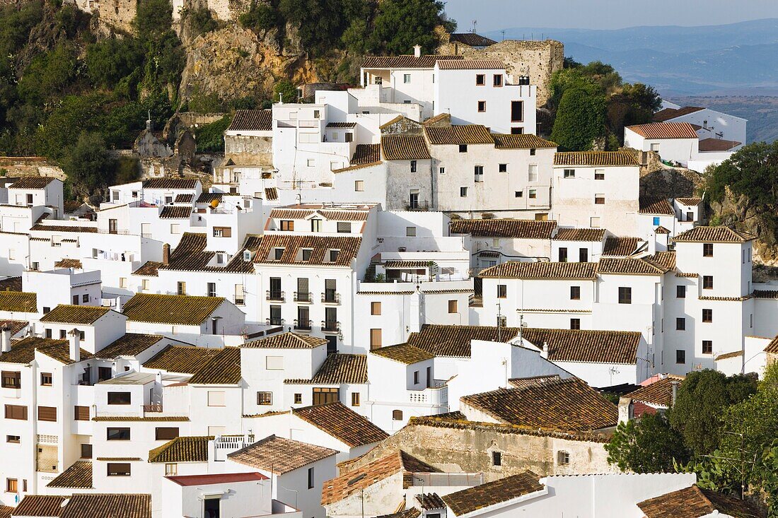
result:
[(538, 107), (548, 101), (548, 82), (552, 73), (562, 69), (565, 61), (565, 46), (556, 40), (503, 40), (484, 49), (448, 42), (438, 48), (438, 53), (503, 61), (513, 82), (517, 82), (520, 75), (528, 75), (530, 82), (538, 86)]

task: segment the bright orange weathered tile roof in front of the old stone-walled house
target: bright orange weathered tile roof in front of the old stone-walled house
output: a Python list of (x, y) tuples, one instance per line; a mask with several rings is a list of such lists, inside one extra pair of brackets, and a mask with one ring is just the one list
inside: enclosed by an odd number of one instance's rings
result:
[(324, 482), (324, 487), (321, 488), (321, 505), (327, 506), (339, 502), (348, 498), (349, 495), (369, 488), (376, 482), (391, 477), (393, 474), (403, 474), (403, 489), (407, 489), (412, 485), (412, 474), (437, 473), (439, 471), (404, 451), (391, 453), (359, 469)]

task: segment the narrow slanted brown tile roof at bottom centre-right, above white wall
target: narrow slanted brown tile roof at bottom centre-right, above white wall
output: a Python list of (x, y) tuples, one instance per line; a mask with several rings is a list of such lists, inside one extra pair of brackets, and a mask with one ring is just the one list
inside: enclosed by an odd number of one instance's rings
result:
[(545, 486), (538, 481), (538, 475), (531, 471), (524, 471), (524, 473), (450, 493), (443, 496), (443, 502), (446, 502), (455, 516), (462, 516), (478, 509), (542, 491), (544, 488)]

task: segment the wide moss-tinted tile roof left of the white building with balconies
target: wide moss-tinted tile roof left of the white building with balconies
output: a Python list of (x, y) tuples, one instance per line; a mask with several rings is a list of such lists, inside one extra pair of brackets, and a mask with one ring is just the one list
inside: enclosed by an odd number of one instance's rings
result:
[(124, 304), (124, 315), (134, 322), (197, 326), (223, 302), (224, 297), (137, 293)]

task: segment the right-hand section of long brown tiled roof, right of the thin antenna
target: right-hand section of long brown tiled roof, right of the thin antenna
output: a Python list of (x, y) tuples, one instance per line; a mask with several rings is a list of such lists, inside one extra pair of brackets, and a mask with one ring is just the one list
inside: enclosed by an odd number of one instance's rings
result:
[(552, 362), (623, 363), (635, 365), (640, 333), (584, 329), (540, 329), (528, 327), (521, 337), (538, 348), (548, 343)]

